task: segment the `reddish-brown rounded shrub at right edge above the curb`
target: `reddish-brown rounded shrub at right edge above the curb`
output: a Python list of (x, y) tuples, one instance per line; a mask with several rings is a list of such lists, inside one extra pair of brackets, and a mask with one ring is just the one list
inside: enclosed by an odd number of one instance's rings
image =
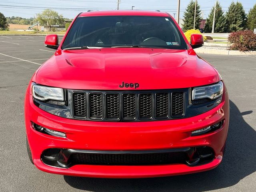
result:
[(232, 45), (230, 46), (230, 50), (256, 50), (256, 34), (254, 34), (252, 30), (232, 32), (228, 36), (228, 41), (232, 43)]

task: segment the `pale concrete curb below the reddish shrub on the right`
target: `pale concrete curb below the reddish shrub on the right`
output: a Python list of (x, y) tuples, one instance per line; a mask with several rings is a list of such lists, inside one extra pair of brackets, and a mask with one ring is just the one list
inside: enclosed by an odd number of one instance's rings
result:
[(218, 54), (218, 55), (256, 55), (256, 51), (240, 52), (234, 50), (220, 49), (194, 49), (196, 54)]

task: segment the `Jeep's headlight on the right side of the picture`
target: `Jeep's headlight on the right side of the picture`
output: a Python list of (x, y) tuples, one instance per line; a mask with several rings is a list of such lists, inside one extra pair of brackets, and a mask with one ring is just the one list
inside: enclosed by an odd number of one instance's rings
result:
[(192, 91), (192, 100), (196, 99), (216, 99), (223, 94), (223, 83), (220, 81), (217, 84), (195, 87)]

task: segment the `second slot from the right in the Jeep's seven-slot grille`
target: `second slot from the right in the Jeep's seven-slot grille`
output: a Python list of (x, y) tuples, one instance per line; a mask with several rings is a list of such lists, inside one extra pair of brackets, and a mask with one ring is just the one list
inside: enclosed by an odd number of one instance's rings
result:
[(169, 114), (168, 93), (156, 94), (156, 118), (167, 118)]

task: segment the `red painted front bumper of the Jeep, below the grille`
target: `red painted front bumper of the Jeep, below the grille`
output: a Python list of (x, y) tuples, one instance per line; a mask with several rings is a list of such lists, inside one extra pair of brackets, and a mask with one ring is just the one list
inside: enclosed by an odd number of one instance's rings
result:
[[(191, 136), (191, 132), (224, 120), (222, 128), (206, 134)], [(31, 121), (56, 131), (66, 133), (58, 138), (37, 132)], [(143, 178), (190, 174), (215, 168), (220, 164), (228, 132), (228, 94), (214, 109), (191, 118), (153, 122), (95, 122), (66, 119), (52, 115), (34, 105), (32, 96), (26, 94), (25, 123), (33, 162), (45, 172), (70, 176), (99, 178)], [(74, 165), (68, 168), (49, 166), (42, 161), (42, 152), (49, 148), (100, 151), (164, 150), (211, 147), (214, 159), (203, 165)]]

